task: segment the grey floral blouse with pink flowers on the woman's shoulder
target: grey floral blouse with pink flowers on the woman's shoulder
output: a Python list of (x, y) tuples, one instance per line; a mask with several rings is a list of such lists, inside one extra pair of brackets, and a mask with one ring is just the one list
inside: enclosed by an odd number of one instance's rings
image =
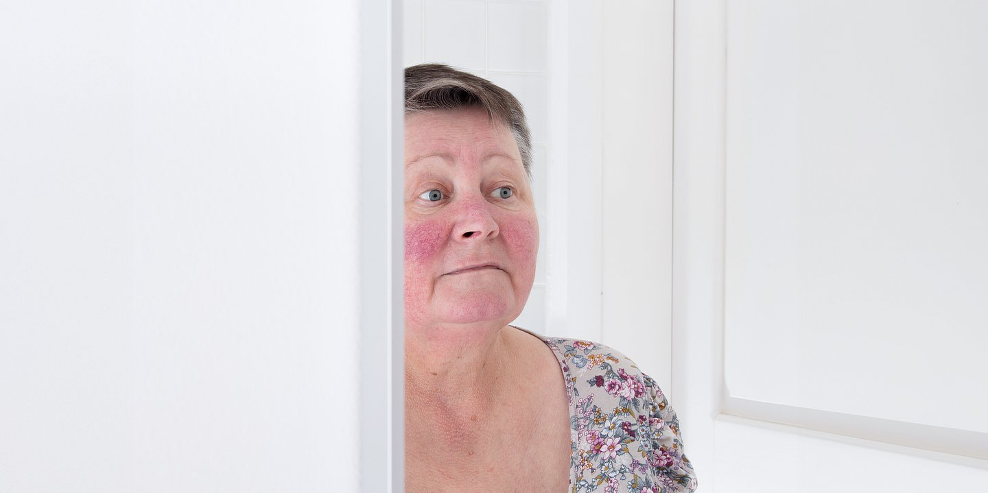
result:
[(655, 380), (607, 346), (536, 337), (555, 354), (566, 379), (571, 493), (697, 489), (679, 419)]

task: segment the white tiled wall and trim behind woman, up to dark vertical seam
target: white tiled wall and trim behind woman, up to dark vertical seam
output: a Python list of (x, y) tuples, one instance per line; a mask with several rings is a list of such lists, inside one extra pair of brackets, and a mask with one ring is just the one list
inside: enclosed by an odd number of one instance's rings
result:
[(516, 323), (614, 345), (664, 387), (672, 4), (407, 0), (403, 23), (406, 64), (446, 62), (487, 77), (529, 116), (541, 244)]

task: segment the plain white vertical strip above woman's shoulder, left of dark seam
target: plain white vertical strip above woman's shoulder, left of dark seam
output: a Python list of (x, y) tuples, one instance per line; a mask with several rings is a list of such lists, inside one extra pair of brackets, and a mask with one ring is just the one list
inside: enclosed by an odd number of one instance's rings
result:
[(602, 338), (672, 396), (673, 2), (602, 8)]

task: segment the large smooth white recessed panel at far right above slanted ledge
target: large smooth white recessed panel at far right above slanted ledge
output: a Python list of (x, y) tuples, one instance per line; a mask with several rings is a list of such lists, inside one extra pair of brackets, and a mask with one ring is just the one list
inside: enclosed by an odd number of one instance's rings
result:
[(730, 395), (988, 432), (985, 23), (729, 2)]

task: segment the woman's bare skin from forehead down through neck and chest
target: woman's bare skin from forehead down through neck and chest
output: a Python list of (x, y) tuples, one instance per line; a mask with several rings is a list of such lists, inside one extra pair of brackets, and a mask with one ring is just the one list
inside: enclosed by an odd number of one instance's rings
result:
[(414, 114), (405, 159), (406, 490), (564, 491), (561, 372), (507, 326), (538, 250), (515, 139), (478, 109)]

